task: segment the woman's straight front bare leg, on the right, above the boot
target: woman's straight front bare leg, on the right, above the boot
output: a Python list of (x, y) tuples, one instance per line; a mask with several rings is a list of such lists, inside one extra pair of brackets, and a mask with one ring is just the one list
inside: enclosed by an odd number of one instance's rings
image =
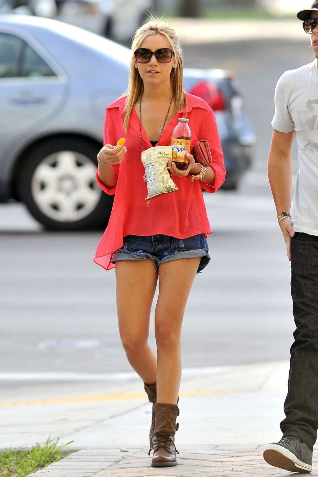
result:
[(181, 380), (181, 326), (199, 264), (198, 257), (159, 265), (159, 296), (154, 317), (158, 403), (177, 402)]

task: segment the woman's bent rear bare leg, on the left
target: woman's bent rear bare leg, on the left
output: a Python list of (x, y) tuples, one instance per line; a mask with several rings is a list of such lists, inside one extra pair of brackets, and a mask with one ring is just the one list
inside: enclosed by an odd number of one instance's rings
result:
[(129, 363), (144, 383), (156, 383), (156, 357), (148, 344), (158, 273), (154, 260), (118, 260), (116, 302), (120, 337)]

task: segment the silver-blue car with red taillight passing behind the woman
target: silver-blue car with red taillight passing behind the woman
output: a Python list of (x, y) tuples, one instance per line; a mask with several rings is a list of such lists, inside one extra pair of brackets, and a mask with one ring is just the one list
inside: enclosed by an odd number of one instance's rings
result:
[[(113, 197), (95, 182), (104, 108), (127, 87), (128, 48), (49, 19), (0, 16), (0, 201), (23, 202), (49, 229), (107, 224)], [(185, 70), (215, 110), (227, 187), (250, 167), (255, 136), (222, 70)]]

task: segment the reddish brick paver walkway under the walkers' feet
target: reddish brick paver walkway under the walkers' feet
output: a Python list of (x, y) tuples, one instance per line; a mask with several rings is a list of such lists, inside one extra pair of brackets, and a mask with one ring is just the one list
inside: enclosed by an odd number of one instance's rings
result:
[[(235, 450), (229, 446), (197, 446), (180, 448), (175, 467), (151, 467), (147, 449), (95, 448), (75, 452), (32, 477), (262, 477), (297, 476), (285, 470), (268, 466), (263, 460), (263, 446), (256, 449)], [(314, 471), (318, 476), (318, 450), (313, 456)]]

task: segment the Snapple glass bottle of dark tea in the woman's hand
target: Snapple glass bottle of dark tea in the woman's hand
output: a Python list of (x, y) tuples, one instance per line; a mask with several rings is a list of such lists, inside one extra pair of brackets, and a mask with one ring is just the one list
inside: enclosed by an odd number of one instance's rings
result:
[(185, 157), (186, 154), (190, 154), (191, 147), (191, 131), (188, 122), (188, 119), (179, 118), (171, 136), (172, 160), (177, 169), (181, 170), (186, 169), (189, 164)]

